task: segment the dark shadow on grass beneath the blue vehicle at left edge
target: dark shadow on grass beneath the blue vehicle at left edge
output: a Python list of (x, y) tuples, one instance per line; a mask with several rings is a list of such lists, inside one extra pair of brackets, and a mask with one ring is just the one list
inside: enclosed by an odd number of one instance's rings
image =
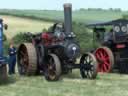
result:
[(13, 84), (15, 82), (16, 82), (16, 78), (14, 76), (8, 76), (6, 77), (6, 79), (0, 80), (0, 86)]

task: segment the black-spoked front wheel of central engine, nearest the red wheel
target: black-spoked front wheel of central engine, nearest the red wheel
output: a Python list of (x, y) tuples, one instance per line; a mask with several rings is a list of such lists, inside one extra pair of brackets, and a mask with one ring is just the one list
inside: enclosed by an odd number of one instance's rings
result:
[(97, 60), (93, 54), (84, 54), (80, 59), (80, 73), (82, 78), (95, 79), (97, 76), (97, 64)]

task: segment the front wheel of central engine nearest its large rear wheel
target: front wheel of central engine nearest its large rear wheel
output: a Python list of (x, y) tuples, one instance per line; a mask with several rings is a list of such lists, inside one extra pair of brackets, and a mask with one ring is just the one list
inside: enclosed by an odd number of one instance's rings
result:
[(57, 81), (61, 75), (61, 62), (55, 54), (48, 55), (48, 64), (45, 71), (48, 81)]

